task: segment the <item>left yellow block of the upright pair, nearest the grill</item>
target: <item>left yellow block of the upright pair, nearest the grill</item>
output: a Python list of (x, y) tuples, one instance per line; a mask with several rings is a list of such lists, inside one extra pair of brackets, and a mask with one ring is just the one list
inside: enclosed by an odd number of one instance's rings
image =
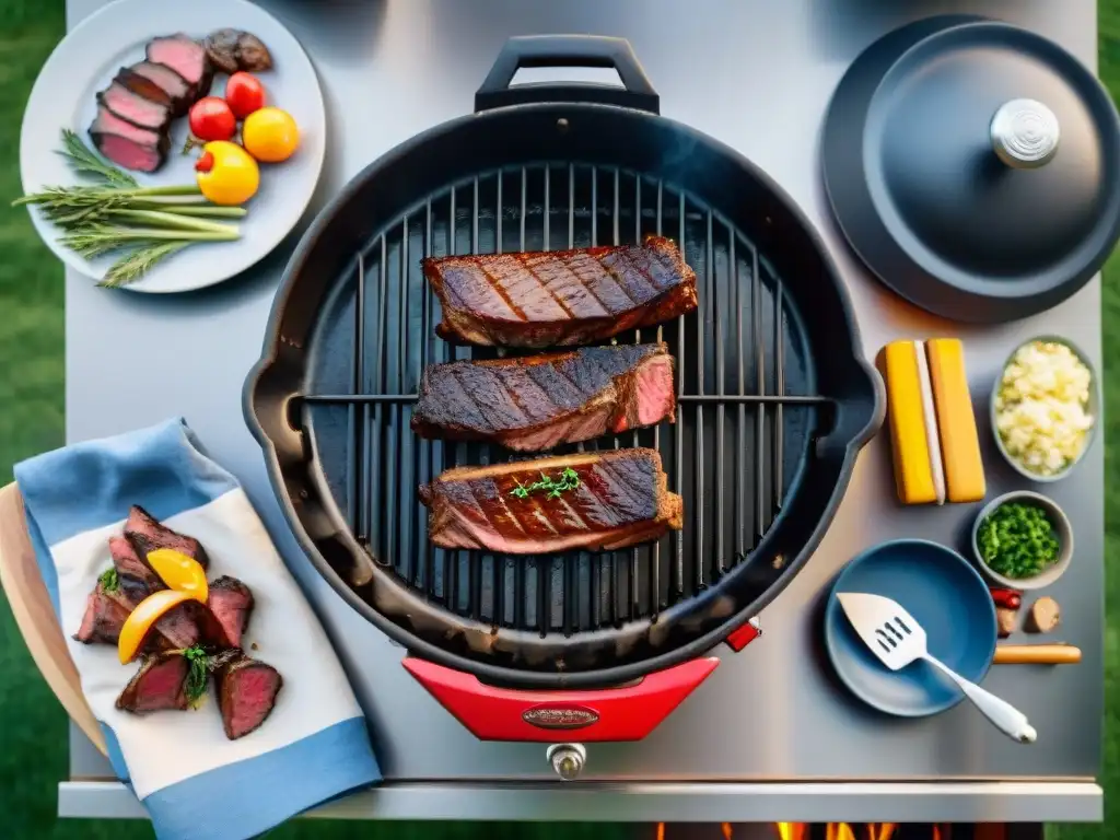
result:
[(931, 440), (936, 429), (935, 423), (926, 422), (930, 400), (922, 393), (923, 347), (916, 342), (892, 342), (877, 362), (887, 386), (887, 424), (898, 498), (908, 505), (941, 502), (940, 457), (934, 458), (940, 452), (936, 440)]

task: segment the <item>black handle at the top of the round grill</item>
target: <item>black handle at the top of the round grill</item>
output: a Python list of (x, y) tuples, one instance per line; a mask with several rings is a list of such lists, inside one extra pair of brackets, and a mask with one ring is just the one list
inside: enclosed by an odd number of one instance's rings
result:
[[(522, 67), (614, 67), (623, 86), (543, 82), (511, 87)], [(475, 113), (536, 102), (588, 102), (661, 113), (661, 97), (629, 41), (601, 35), (524, 35), (505, 43), (475, 93)]]

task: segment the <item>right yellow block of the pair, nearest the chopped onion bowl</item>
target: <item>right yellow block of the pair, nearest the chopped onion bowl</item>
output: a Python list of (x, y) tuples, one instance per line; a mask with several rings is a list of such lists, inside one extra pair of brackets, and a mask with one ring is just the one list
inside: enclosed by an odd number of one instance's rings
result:
[(937, 409), (945, 495), (950, 502), (979, 502), (987, 487), (977, 419), (964, 372), (964, 348), (958, 338), (931, 338), (925, 343), (925, 352)]

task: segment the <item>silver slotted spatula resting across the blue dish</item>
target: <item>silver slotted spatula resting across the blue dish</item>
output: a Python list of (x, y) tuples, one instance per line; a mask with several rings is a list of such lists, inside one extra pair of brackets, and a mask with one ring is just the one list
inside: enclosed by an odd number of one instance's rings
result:
[(892, 671), (925, 660), (956, 683), (964, 697), (1004, 732), (1020, 744), (1035, 740), (1037, 732), (1023, 712), (930, 655), (922, 625), (897, 601), (869, 592), (839, 592), (837, 599), (864, 644)]

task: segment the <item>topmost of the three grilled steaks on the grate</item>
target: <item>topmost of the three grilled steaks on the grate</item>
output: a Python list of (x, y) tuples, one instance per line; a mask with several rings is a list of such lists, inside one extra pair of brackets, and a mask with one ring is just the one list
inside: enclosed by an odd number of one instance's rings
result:
[(508, 347), (571, 347), (691, 312), (696, 273), (671, 240), (578, 251), (426, 258), (437, 334)]

